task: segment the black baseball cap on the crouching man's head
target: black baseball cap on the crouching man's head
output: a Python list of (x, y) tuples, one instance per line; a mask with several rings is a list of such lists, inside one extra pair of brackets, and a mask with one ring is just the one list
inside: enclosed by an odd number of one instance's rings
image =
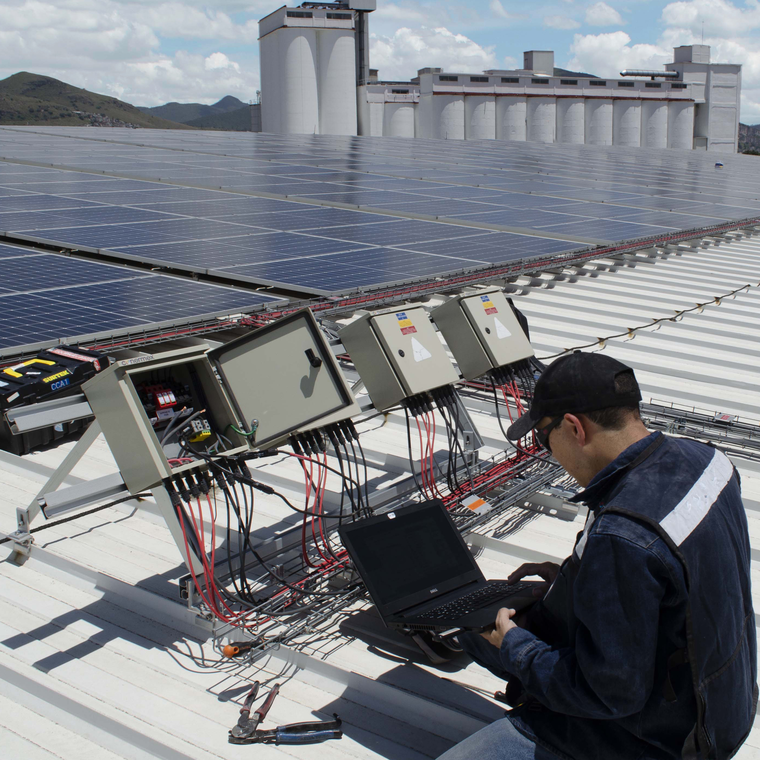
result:
[[(618, 393), (615, 379), (631, 375), (629, 391)], [(633, 370), (612, 356), (577, 351), (557, 359), (538, 378), (530, 410), (507, 430), (510, 441), (518, 441), (543, 417), (594, 412), (607, 407), (627, 407), (641, 401)]]

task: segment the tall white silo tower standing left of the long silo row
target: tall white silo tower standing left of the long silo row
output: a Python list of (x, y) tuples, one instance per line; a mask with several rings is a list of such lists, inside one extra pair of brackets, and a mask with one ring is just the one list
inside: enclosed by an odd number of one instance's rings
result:
[(366, 16), (375, 0), (304, 2), (258, 22), (261, 127), (356, 135), (356, 87), (368, 77)]

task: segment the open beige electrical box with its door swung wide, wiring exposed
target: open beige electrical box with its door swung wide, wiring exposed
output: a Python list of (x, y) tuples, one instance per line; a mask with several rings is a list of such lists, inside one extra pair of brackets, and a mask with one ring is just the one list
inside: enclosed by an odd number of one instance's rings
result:
[(202, 466), (172, 444), (180, 430), (200, 454), (235, 454), (359, 412), (309, 309), (207, 349), (123, 359), (82, 386), (132, 493)]

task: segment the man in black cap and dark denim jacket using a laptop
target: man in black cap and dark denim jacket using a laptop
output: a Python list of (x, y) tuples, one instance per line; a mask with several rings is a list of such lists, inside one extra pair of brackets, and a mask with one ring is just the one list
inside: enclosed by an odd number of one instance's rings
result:
[[(531, 429), (589, 508), (543, 599), (500, 610), (465, 651), (508, 681), (515, 708), (445, 760), (722, 760), (752, 727), (757, 646), (739, 475), (711, 446), (650, 433), (632, 369), (599, 353), (549, 366)], [(550, 584), (550, 585), (549, 585)]]

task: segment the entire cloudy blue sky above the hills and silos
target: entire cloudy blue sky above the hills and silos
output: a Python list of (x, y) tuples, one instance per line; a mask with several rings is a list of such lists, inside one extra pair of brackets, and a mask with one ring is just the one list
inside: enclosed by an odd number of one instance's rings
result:
[[(297, 5), (293, 3), (293, 5)], [(268, 0), (3, 0), (0, 78), (48, 74), (137, 105), (213, 103), (258, 89), (258, 19)], [(553, 49), (556, 65), (613, 76), (660, 68), (673, 46), (701, 41), (713, 60), (743, 64), (742, 121), (760, 122), (760, 2), (730, 0), (378, 0), (371, 65), (383, 78), (417, 68), (521, 65)]]

